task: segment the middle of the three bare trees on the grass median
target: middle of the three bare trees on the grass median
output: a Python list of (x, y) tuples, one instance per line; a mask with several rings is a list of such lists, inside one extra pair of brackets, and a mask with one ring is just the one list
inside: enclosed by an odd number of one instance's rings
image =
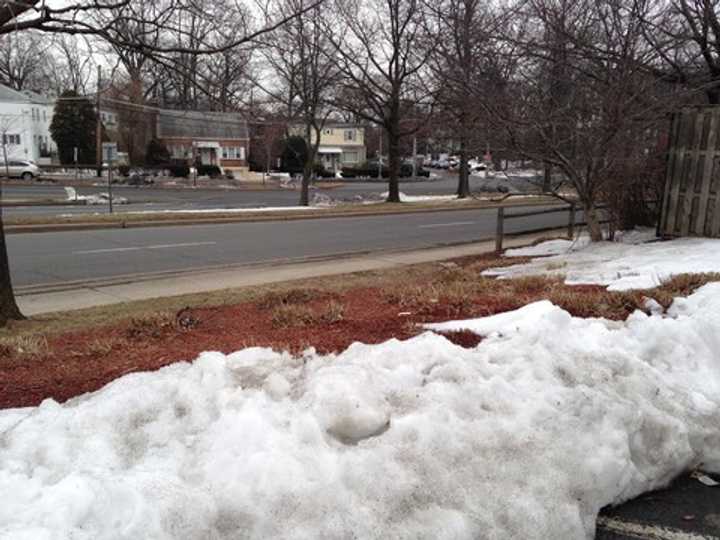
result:
[[(421, 0), (350, 0), (338, 3), (348, 34), (333, 39), (343, 83), (339, 100), (357, 117), (382, 126), (388, 141), (388, 202), (400, 202), (400, 141), (422, 125), (421, 81), (433, 44)], [(423, 111), (424, 112), (424, 111)], [(403, 123), (404, 119), (414, 121)]]

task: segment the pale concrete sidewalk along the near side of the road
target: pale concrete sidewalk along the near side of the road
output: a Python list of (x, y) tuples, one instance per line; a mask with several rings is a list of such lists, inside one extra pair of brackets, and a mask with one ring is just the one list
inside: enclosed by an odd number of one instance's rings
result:
[[(529, 244), (539, 238), (558, 237), (562, 232), (542, 232), (506, 237), (505, 247)], [(378, 251), (361, 254), (340, 254), (314, 260), (287, 260), (257, 265), (203, 269), (176, 274), (133, 275), (107, 281), (73, 282), (43, 287), (18, 288), (18, 304), (26, 315), (70, 311), (218, 291), (253, 285), (266, 285), (295, 279), (383, 270), (400, 266), (442, 261), (455, 257), (490, 253), (494, 240), (455, 246), (408, 251)]]

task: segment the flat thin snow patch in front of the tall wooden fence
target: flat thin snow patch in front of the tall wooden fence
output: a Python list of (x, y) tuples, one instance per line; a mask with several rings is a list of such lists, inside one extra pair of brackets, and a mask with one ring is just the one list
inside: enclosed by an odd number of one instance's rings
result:
[(487, 276), (564, 275), (568, 285), (604, 285), (611, 291), (651, 289), (683, 273), (720, 272), (720, 240), (679, 238), (647, 242), (650, 230), (626, 234), (619, 242), (591, 244), (587, 238), (551, 240), (537, 246), (511, 249), (510, 257), (538, 257), (527, 264), (490, 268)]

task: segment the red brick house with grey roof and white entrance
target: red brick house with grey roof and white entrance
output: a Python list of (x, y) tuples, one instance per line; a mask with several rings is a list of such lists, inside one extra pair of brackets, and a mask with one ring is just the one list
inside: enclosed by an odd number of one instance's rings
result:
[(163, 109), (157, 113), (156, 123), (156, 136), (173, 159), (247, 169), (248, 126), (240, 115)]

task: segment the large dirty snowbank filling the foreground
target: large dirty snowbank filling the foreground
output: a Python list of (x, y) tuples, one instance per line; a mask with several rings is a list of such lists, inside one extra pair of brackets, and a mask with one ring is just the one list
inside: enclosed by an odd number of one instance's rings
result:
[(582, 539), (720, 470), (720, 284), (667, 317), (435, 326), (461, 327), (488, 337), (205, 353), (0, 411), (0, 537)]

